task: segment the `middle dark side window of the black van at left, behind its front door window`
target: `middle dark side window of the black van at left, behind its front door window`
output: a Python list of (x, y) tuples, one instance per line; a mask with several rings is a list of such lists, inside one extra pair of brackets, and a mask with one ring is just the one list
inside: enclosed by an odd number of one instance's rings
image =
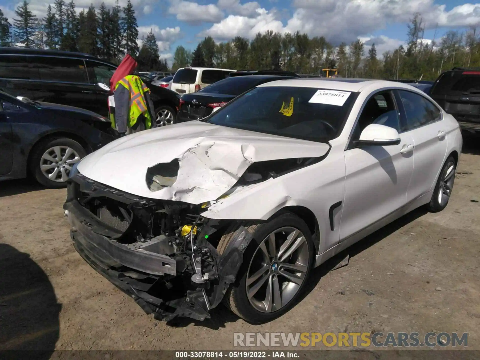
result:
[(84, 60), (47, 56), (28, 58), (29, 63), (38, 69), (40, 80), (88, 84)]

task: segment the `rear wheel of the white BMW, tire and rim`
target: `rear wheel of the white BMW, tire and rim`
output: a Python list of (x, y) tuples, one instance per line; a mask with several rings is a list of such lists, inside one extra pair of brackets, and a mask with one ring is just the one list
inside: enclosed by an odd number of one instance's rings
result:
[(448, 204), (452, 195), (453, 184), (455, 182), (456, 161), (453, 156), (449, 156), (440, 171), (435, 189), (433, 190), (432, 200), (428, 209), (432, 213), (442, 211)]

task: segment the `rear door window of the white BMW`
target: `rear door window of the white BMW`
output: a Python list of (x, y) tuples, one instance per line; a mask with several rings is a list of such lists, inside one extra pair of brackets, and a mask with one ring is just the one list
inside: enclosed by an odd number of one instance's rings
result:
[(441, 120), (442, 113), (430, 100), (418, 94), (398, 90), (408, 121), (408, 129), (415, 129)]

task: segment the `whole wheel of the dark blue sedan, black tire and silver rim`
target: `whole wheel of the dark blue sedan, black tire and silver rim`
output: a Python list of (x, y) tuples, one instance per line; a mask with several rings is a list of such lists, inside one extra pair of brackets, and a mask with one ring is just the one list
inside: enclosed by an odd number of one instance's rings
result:
[(49, 189), (67, 186), (66, 180), (73, 164), (87, 153), (84, 147), (69, 138), (40, 141), (32, 149), (29, 168), (35, 179)]

